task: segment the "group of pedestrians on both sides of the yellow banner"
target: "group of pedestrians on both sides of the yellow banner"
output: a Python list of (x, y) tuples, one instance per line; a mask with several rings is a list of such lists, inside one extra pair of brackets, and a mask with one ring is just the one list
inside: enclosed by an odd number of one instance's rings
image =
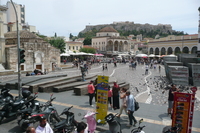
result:
[[(95, 97), (95, 102), (97, 102), (97, 79), (95, 81), (90, 81), (88, 84), (88, 95), (89, 95), (89, 105), (93, 107), (92, 101), (93, 97)], [(137, 120), (135, 119), (133, 113), (135, 111), (135, 99), (133, 95), (130, 93), (129, 90), (126, 88), (120, 88), (120, 86), (117, 84), (117, 82), (113, 83), (113, 87), (111, 89), (110, 86), (108, 86), (108, 106), (110, 105), (110, 108), (113, 110), (119, 110), (119, 115), (117, 116), (120, 118), (122, 111), (128, 115), (129, 118), (129, 124), (127, 126), (135, 126), (137, 123)], [(120, 102), (121, 100), (121, 102)], [(121, 105), (120, 105), (121, 104)], [(134, 121), (134, 124), (133, 124)]]

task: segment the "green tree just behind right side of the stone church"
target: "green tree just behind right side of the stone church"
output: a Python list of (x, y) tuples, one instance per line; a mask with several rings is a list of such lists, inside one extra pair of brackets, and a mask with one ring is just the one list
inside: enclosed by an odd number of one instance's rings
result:
[(62, 53), (65, 53), (65, 40), (64, 40), (63, 38), (60, 38), (60, 37), (51, 38), (51, 39), (49, 40), (49, 43), (50, 43), (52, 46), (54, 46), (54, 47), (60, 49), (60, 53), (61, 53), (61, 54), (62, 54)]

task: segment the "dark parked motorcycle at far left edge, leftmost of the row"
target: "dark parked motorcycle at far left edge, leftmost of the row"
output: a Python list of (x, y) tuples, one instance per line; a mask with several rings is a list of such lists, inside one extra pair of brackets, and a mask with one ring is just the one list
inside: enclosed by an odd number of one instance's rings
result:
[(0, 123), (4, 118), (14, 117), (19, 110), (27, 108), (30, 105), (30, 102), (32, 102), (32, 99), (27, 99), (30, 95), (31, 92), (25, 90), (22, 92), (23, 97), (15, 102), (11, 97), (6, 97), (6, 100), (2, 103), (2, 108), (0, 109)]

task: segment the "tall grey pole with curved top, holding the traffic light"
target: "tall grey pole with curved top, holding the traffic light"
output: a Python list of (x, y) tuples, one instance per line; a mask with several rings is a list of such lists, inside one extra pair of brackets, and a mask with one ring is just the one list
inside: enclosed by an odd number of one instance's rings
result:
[(21, 93), (22, 93), (22, 83), (21, 83), (21, 66), (20, 66), (20, 34), (19, 34), (19, 27), (18, 27), (18, 16), (17, 16), (17, 11), (15, 8), (15, 5), (13, 3), (12, 0), (10, 0), (14, 11), (15, 11), (15, 15), (16, 15), (16, 26), (17, 26), (17, 57), (18, 57), (18, 94), (19, 94), (19, 98), (21, 98)]

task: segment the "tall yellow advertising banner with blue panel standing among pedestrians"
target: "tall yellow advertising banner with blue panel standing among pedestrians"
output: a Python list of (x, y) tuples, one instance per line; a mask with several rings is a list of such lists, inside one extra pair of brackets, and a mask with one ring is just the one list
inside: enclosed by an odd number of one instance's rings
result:
[(105, 123), (105, 117), (108, 111), (108, 76), (98, 76), (97, 78), (97, 105), (96, 120), (99, 123)]

